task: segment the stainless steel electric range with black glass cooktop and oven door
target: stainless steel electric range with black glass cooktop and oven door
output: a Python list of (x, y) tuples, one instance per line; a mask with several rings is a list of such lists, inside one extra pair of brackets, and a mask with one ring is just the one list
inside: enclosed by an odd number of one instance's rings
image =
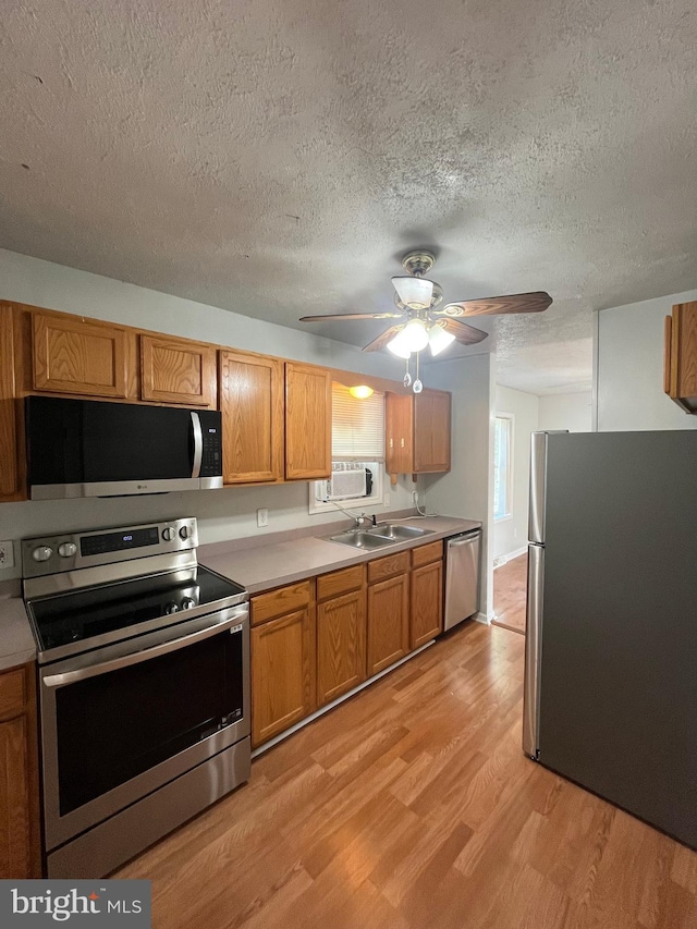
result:
[(25, 539), (51, 878), (103, 877), (248, 780), (247, 592), (196, 521)]

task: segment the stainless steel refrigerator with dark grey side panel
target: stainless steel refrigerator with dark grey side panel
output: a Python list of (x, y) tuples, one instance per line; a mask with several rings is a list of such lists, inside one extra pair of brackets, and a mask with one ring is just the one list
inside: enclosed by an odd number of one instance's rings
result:
[(535, 432), (523, 749), (697, 847), (697, 430)]

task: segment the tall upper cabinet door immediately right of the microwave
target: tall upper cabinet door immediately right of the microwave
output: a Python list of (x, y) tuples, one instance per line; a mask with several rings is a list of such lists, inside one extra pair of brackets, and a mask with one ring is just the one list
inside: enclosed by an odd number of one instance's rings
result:
[(220, 353), (225, 484), (283, 479), (283, 362)]

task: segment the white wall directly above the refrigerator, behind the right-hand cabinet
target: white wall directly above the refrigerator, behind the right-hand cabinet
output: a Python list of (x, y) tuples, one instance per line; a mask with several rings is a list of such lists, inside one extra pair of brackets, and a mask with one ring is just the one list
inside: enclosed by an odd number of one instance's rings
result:
[(663, 319), (674, 303), (688, 301), (697, 301), (697, 290), (599, 311), (599, 431), (697, 428), (697, 416), (663, 393)]

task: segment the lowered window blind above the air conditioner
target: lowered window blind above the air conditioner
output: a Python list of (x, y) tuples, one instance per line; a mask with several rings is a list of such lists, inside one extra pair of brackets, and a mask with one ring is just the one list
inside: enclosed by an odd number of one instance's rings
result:
[(356, 400), (331, 386), (331, 456), (334, 461), (384, 461), (384, 394)]

